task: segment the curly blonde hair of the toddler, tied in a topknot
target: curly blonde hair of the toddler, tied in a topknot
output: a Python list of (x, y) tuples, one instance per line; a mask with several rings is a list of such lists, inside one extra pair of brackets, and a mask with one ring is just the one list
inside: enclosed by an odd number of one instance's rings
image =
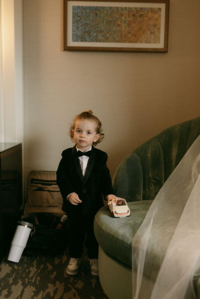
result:
[(102, 130), (102, 124), (101, 124), (100, 120), (95, 115), (93, 115), (92, 110), (88, 110), (88, 111), (84, 110), (82, 113), (76, 115), (75, 118), (73, 118), (73, 123), (70, 124), (69, 135), (70, 135), (70, 138), (72, 141), (73, 141), (73, 131), (75, 128), (75, 123), (76, 123), (76, 120), (78, 120), (78, 119), (91, 120), (97, 124), (96, 133), (100, 134), (100, 138), (96, 142), (93, 141), (92, 144), (94, 146), (96, 146), (98, 143), (100, 143), (103, 140), (104, 134), (102, 132), (103, 130)]

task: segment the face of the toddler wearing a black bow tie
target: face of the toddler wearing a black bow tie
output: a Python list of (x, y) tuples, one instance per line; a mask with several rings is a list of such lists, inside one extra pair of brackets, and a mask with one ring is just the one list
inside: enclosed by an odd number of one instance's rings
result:
[(96, 142), (100, 134), (96, 132), (97, 124), (87, 119), (77, 119), (73, 131), (73, 139), (76, 142), (78, 149), (85, 152), (88, 150), (93, 141)]

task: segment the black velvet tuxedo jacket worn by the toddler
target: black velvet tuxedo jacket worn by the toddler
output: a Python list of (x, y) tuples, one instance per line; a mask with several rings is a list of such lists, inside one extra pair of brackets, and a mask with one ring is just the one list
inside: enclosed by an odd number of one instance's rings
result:
[[(84, 216), (94, 215), (103, 206), (103, 196), (113, 194), (109, 169), (106, 166), (106, 152), (92, 146), (85, 177), (82, 174), (76, 145), (62, 152), (62, 159), (57, 170), (57, 184), (63, 197), (62, 210), (76, 213), (81, 205)], [(82, 203), (72, 205), (67, 195), (77, 193)], [(79, 207), (80, 208), (80, 207)]]

